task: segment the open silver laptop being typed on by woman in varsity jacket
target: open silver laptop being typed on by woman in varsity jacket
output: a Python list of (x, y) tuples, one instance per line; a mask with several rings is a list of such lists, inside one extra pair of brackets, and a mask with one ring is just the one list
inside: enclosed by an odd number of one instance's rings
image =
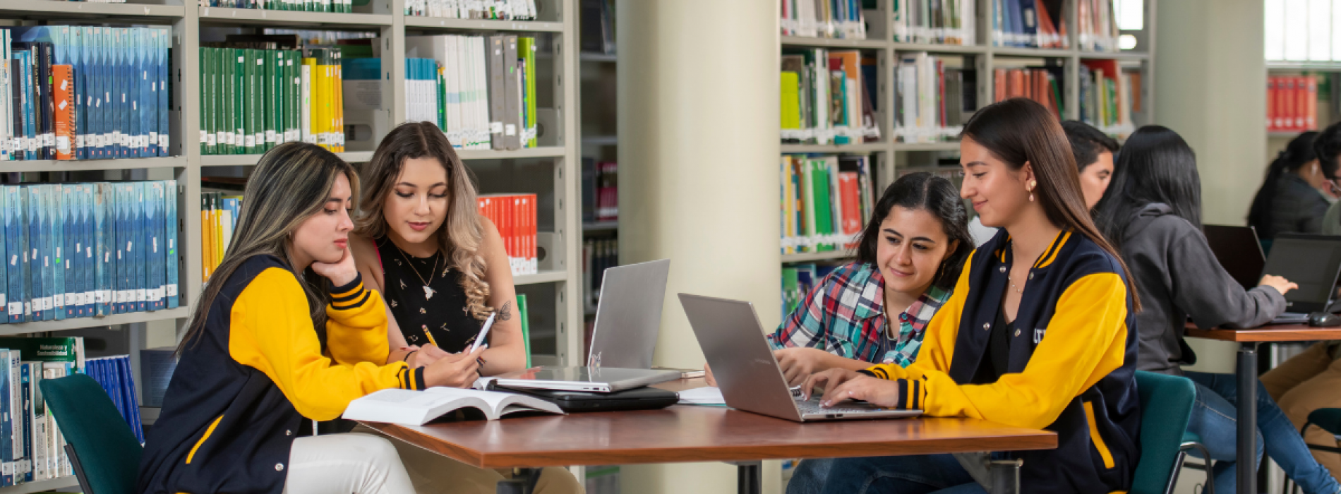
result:
[(712, 375), (727, 405), (794, 422), (908, 417), (920, 409), (890, 409), (866, 403), (846, 403), (821, 408), (819, 396), (794, 397), (754, 305), (700, 295), (680, 294), (680, 305), (699, 346), (708, 357)]

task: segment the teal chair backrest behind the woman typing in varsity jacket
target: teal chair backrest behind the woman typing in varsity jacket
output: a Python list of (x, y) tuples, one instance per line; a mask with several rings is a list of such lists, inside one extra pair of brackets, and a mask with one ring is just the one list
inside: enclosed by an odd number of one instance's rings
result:
[(1187, 377), (1137, 370), (1136, 389), (1141, 396), (1141, 459), (1130, 493), (1163, 494), (1177, 467), (1173, 463), (1192, 416), (1196, 387)]

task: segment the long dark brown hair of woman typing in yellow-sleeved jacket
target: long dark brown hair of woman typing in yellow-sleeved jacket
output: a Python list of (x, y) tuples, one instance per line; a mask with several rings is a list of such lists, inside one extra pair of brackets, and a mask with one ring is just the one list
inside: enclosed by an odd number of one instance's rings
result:
[[(1038, 187), (1034, 196), (1047, 220), (1062, 230), (1069, 230), (1097, 244), (1121, 266), (1122, 275), (1130, 279), (1130, 270), (1117, 254), (1117, 248), (1100, 234), (1085, 196), (1081, 193), (1080, 170), (1075, 157), (1066, 141), (1066, 132), (1057, 115), (1033, 99), (1011, 98), (984, 106), (964, 124), (960, 137), (968, 137), (987, 148), (996, 158), (1012, 170), (1019, 170), (1029, 162), (1034, 169)], [(1132, 294), (1132, 309), (1141, 310), (1141, 299), (1136, 285), (1126, 283)]]

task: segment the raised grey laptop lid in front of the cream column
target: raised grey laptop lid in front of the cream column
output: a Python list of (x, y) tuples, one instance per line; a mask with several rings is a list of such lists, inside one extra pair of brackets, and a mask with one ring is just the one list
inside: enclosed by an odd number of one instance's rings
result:
[(652, 368), (670, 259), (605, 270), (587, 366)]

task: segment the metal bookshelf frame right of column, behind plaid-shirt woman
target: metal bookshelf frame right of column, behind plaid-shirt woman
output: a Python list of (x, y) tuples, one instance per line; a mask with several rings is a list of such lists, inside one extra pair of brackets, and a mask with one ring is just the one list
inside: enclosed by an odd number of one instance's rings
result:
[[(896, 43), (893, 38), (894, 26), (893, 0), (877, 1), (876, 9), (865, 11), (868, 34), (866, 39), (825, 39), (802, 36), (779, 36), (779, 50), (822, 47), (834, 50), (862, 50), (874, 52), (878, 59), (878, 81), (876, 99), (877, 115), (880, 121), (881, 140), (878, 142), (862, 142), (849, 145), (782, 145), (782, 153), (860, 153), (872, 154), (872, 172), (876, 193), (884, 191), (904, 170), (927, 168), (931, 161), (927, 156), (952, 156), (959, 150), (959, 142), (944, 140), (937, 142), (900, 142), (893, 138), (896, 114), (892, 111), (894, 103), (894, 72), (900, 56), (909, 52), (928, 52), (933, 55), (963, 56), (964, 67), (976, 72), (975, 85), (978, 87), (978, 106), (982, 107), (995, 101), (992, 95), (992, 71), (998, 67), (1019, 66), (1026, 60), (1047, 59), (1057, 60), (1065, 67), (1065, 78), (1061, 81), (1062, 118), (1080, 118), (1080, 64), (1081, 60), (1118, 60), (1125, 70), (1134, 70), (1141, 74), (1141, 111), (1132, 115), (1133, 124), (1141, 126), (1152, 124), (1155, 106), (1155, 11), (1159, 0), (1144, 1), (1144, 30), (1122, 31), (1137, 38), (1139, 51), (1094, 52), (1081, 50), (1080, 36), (1075, 35), (1077, 8), (1075, 0), (1063, 0), (1063, 11), (1069, 12), (1066, 19), (1070, 32), (1067, 48), (1019, 48), (998, 47), (991, 44), (991, 0), (978, 0), (976, 3), (976, 42), (975, 44), (931, 44), (931, 43)], [(1294, 67), (1291, 67), (1294, 68)], [(848, 258), (843, 252), (807, 252), (783, 255), (782, 262), (814, 262), (814, 260), (841, 260)]]

